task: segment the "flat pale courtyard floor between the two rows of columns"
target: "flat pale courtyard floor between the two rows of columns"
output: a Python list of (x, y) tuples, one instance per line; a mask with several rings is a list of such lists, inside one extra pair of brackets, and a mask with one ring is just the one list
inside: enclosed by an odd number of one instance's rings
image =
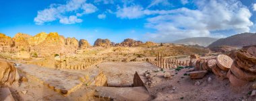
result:
[(108, 77), (108, 84), (117, 86), (131, 86), (135, 71), (143, 73), (143, 71), (148, 69), (157, 68), (156, 66), (146, 62), (106, 62), (100, 63), (97, 66)]

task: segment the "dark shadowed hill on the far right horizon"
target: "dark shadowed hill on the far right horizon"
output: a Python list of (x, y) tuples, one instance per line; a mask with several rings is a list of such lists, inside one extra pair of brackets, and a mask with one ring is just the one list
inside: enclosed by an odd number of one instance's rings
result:
[(242, 48), (243, 46), (256, 44), (256, 34), (255, 33), (242, 33), (236, 34), (234, 36), (229, 36), (227, 38), (221, 38), (216, 42), (213, 42), (208, 47), (215, 46), (233, 46), (236, 48)]

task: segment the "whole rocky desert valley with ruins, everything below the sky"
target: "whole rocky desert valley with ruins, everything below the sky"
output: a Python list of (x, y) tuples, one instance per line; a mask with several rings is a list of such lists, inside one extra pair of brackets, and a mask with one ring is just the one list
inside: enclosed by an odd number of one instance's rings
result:
[(98, 38), (91, 46), (57, 32), (0, 35), (5, 100), (255, 100), (249, 40), (204, 47)]

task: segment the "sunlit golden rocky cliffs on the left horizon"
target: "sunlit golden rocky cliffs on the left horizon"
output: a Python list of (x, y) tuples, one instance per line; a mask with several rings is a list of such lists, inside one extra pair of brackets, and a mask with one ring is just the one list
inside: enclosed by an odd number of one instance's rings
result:
[(0, 51), (27, 51), (37, 56), (59, 53), (75, 53), (78, 49), (78, 40), (65, 38), (57, 32), (40, 32), (35, 36), (18, 33), (13, 38), (0, 34)]

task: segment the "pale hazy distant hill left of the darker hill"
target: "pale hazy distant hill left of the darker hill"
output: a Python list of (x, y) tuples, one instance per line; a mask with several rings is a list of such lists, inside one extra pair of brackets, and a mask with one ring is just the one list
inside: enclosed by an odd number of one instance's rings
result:
[(176, 40), (173, 43), (175, 44), (185, 44), (185, 45), (200, 45), (200, 46), (208, 46), (218, 40), (217, 38), (209, 38), (209, 37), (194, 37), (194, 38), (183, 38), (181, 40)]

